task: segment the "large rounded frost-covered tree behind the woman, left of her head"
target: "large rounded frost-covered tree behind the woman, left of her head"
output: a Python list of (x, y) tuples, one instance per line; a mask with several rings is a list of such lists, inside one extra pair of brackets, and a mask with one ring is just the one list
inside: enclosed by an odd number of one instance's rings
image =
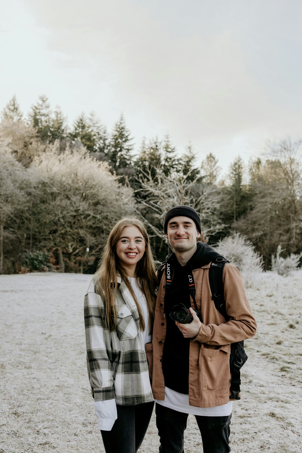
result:
[(49, 146), (31, 170), (40, 178), (39, 241), (57, 248), (61, 271), (63, 256), (70, 269), (80, 263), (81, 270), (83, 260), (99, 253), (114, 223), (134, 212), (133, 191), (121, 186), (108, 164), (96, 161), (84, 147), (76, 152), (67, 147), (59, 154), (58, 145)]

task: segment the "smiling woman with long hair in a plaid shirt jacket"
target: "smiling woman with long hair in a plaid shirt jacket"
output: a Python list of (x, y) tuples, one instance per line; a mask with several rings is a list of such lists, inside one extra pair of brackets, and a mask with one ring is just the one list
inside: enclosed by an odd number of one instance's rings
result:
[(149, 425), (154, 401), (146, 352), (152, 357), (155, 284), (144, 224), (121, 219), (84, 306), (87, 369), (106, 453), (137, 452)]

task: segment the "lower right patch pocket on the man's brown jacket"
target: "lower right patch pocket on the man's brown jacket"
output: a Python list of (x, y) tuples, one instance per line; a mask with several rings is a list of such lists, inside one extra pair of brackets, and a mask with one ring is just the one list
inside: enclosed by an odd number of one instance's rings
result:
[(203, 345), (199, 355), (202, 390), (230, 388), (230, 345)]

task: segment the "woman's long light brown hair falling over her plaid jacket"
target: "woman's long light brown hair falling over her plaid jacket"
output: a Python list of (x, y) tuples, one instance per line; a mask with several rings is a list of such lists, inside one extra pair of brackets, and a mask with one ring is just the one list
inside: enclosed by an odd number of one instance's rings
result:
[(105, 304), (105, 322), (109, 330), (116, 329), (116, 290), (117, 290), (117, 276), (125, 282), (130, 294), (132, 295), (136, 307), (139, 312), (139, 327), (141, 330), (145, 330), (144, 316), (142, 309), (134, 295), (132, 286), (128, 279), (127, 272), (120, 265), (118, 256), (116, 254), (116, 243), (119, 240), (121, 233), (125, 226), (136, 226), (145, 240), (145, 252), (143, 257), (136, 263), (135, 277), (139, 278), (139, 287), (142, 290), (148, 307), (149, 313), (149, 325), (152, 333), (153, 329), (153, 318), (154, 318), (154, 307), (155, 307), (155, 264), (153, 260), (153, 254), (149, 242), (149, 236), (144, 223), (136, 217), (124, 217), (110, 231), (106, 245), (101, 254), (101, 263), (99, 269), (96, 271), (98, 276), (96, 285), (100, 291), (101, 296), (104, 299)]

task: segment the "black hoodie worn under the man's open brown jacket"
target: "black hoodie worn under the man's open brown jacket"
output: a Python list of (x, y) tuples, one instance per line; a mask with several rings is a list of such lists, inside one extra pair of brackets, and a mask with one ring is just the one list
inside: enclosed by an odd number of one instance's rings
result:
[(180, 330), (170, 318), (174, 305), (186, 304), (191, 307), (187, 275), (190, 270), (204, 266), (221, 256), (203, 242), (197, 243), (197, 251), (181, 266), (173, 253), (168, 262), (174, 270), (172, 287), (165, 294), (165, 313), (167, 322), (166, 339), (163, 346), (163, 376), (165, 386), (179, 393), (189, 393), (189, 349), (190, 338), (184, 338)]

